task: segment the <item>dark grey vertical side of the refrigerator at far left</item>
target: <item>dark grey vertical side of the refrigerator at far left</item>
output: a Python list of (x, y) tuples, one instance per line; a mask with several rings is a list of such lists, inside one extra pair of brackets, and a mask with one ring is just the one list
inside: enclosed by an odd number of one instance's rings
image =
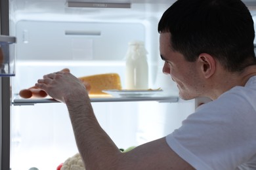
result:
[[(9, 1), (0, 1), (1, 35), (9, 35)], [(10, 169), (10, 78), (1, 78), (1, 170)]]

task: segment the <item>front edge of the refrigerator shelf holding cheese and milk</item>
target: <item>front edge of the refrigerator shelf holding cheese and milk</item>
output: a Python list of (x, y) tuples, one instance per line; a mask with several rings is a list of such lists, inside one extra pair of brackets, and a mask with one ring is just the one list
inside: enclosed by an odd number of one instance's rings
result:
[[(158, 101), (160, 103), (176, 103), (179, 97), (109, 97), (91, 98), (91, 102), (132, 102), (132, 101)], [(54, 99), (14, 99), (12, 105), (35, 105), (37, 103), (60, 103)]]

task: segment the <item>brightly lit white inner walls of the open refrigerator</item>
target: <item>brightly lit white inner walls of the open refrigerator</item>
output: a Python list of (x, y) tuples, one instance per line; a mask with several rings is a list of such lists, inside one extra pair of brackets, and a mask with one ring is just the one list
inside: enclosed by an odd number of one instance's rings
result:
[[(77, 77), (118, 73), (125, 89), (125, 54), (128, 43), (136, 40), (144, 41), (148, 51), (149, 88), (163, 90), (153, 97), (179, 99), (171, 77), (161, 72), (157, 31), (161, 14), (173, 2), (83, 1), (91, 6), (68, 7), (66, 0), (10, 0), (11, 35), (16, 37), (12, 101), (21, 99), (20, 90), (30, 88), (38, 78), (63, 68)], [(125, 8), (119, 8), (122, 4)], [(11, 169), (56, 169), (78, 152), (66, 106), (29, 104), (11, 108)], [(195, 109), (194, 100), (181, 99), (117, 99), (92, 105), (100, 125), (119, 148), (164, 137)]]

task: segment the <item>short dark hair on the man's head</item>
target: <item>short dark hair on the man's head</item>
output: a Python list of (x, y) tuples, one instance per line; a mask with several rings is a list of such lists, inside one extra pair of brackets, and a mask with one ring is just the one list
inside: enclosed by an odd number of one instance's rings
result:
[(256, 64), (253, 18), (240, 0), (178, 0), (163, 13), (158, 32), (171, 33), (171, 48), (187, 61), (207, 53), (228, 71)]

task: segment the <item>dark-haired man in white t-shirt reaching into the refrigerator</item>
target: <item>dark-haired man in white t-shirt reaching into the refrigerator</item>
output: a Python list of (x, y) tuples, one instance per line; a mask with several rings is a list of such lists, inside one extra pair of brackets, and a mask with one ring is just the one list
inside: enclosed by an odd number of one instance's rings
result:
[(37, 88), (66, 103), (86, 169), (256, 169), (256, 59), (240, 0), (178, 0), (158, 25), (163, 73), (182, 99), (209, 97), (167, 137), (127, 153), (99, 126), (85, 86), (69, 72)]

